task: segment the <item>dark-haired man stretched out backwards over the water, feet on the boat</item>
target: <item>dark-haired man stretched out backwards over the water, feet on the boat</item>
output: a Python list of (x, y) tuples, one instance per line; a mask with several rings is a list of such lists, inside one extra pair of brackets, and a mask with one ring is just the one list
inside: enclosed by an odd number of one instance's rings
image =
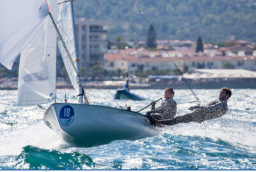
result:
[(186, 115), (175, 117), (172, 120), (157, 120), (148, 116), (150, 124), (163, 124), (163, 125), (175, 125), (179, 123), (188, 122), (204, 122), (205, 120), (211, 120), (214, 118), (220, 118), (228, 110), (227, 100), (231, 97), (232, 92), (230, 89), (223, 87), (220, 91), (220, 96), (215, 101), (208, 103), (206, 106), (191, 106), (189, 110), (195, 110), (192, 113)]

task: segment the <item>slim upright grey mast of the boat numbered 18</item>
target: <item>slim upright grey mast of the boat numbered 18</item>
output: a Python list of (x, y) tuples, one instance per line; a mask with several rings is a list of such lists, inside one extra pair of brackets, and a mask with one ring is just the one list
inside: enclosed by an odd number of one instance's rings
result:
[(72, 25), (73, 25), (73, 34), (74, 34), (74, 44), (75, 44), (75, 54), (76, 54), (76, 68), (78, 72), (78, 87), (79, 87), (79, 103), (83, 104), (83, 87), (81, 83), (81, 75), (80, 75), (80, 68), (79, 68), (79, 59), (78, 59), (78, 51), (77, 51), (77, 40), (76, 40), (76, 25), (74, 20), (74, 10), (73, 10), (73, 0), (70, 0), (70, 10), (71, 10), (71, 17), (72, 17)]

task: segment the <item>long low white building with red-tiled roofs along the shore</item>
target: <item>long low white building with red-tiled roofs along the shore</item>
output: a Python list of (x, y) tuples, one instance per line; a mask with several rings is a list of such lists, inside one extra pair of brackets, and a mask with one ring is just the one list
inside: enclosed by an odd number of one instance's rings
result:
[[(136, 51), (134, 51), (136, 52)], [(220, 69), (225, 62), (233, 64), (235, 69), (248, 69), (256, 71), (256, 57), (243, 56), (243, 57), (148, 57), (136, 56), (132, 52), (127, 53), (121, 51), (118, 53), (111, 53), (106, 55), (106, 63), (104, 68), (108, 71), (116, 71), (118, 68), (125, 72), (134, 72), (140, 69), (146, 71), (147, 69), (163, 69), (173, 70), (176, 69), (175, 64), (183, 70), (183, 66), (188, 66), (189, 70), (193, 69)]]

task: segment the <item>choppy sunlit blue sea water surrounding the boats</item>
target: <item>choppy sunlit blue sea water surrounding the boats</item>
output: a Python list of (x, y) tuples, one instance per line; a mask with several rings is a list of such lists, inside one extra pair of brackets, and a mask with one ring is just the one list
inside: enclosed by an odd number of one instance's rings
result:
[[(74, 90), (67, 90), (74, 102)], [(117, 106), (108, 90), (87, 90), (93, 104)], [(115, 94), (115, 90), (110, 90)], [(145, 101), (118, 101), (140, 110), (164, 90), (132, 90)], [(201, 103), (220, 90), (195, 90)], [(113, 141), (92, 148), (71, 147), (43, 121), (38, 106), (17, 107), (16, 90), (0, 90), (0, 169), (256, 169), (256, 90), (235, 89), (228, 112), (202, 124), (166, 127), (159, 136)], [(57, 90), (63, 101), (65, 90)], [(177, 103), (194, 101), (189, 90), (175, 90)], [(159, 103), (157, 103), (159, 105)], [(189, 105), (179, 104), (178, 115)], [(45, 104), (47, 108), (49, 104)], [(144, 110), (144, 112), (147, 110)]]

